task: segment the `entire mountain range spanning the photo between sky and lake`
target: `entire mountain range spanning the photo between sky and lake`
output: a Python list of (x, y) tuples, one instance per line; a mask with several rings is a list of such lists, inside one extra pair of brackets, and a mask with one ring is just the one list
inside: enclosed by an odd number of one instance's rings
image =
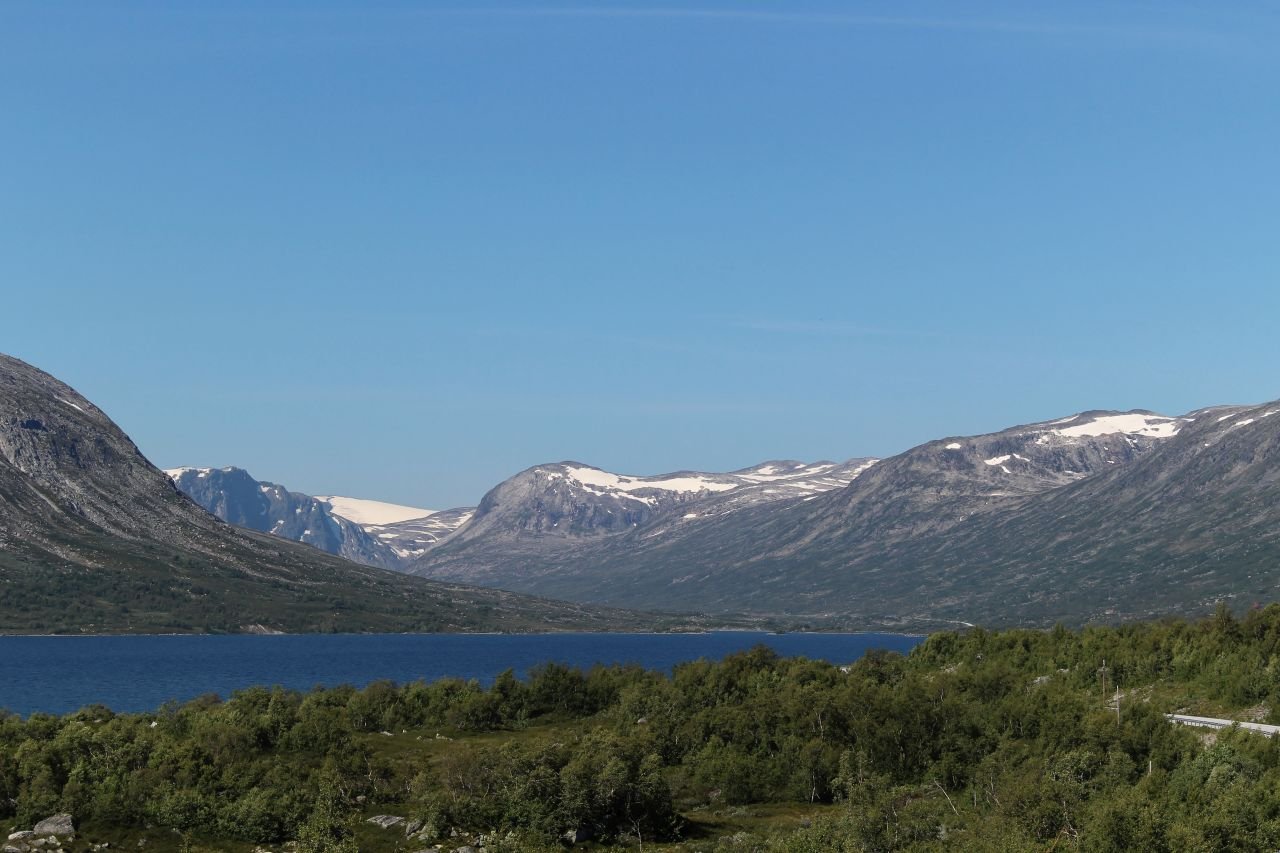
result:
[(654, 622), (635, 608), (923, 629), (1244, 607), (1280, 580), (1277, 414), (1088, 411), (728, 473), (543, 464), (433, 512), (234, 467), (161, 473), (92, 402), (0, 356), (0, 631)]

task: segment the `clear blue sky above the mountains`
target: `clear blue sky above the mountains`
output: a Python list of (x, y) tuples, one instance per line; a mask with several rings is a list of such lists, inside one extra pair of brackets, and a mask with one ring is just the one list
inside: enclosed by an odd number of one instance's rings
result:
[(1275, 398), (1277, 38), (1262, 3), (6, 3), (0, 351), (161, 466), (429, 507)]

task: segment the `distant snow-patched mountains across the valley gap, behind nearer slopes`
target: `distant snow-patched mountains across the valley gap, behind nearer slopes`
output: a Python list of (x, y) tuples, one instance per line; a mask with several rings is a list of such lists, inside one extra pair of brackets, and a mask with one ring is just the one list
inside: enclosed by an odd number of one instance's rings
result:
[[(356, 562), (413, 573), (440, 546), (467, 553), (463, 574), (497, 578), (520, 553), (559, 552), (664, 520), (713, 519), (759, 503), (808, 500), (847, 485), (876, 460), (772, 461), (709, 474), (611, 474), (581, 462), (539, 465), (504, 480), (479, 507), (431, 511), (351, 497), (311, 497), (239, 467), (165, 471), (196, 503), (230, 524), (302, 542)], [(695, 507), (696, 511), (691, 511)], [(440, 556), (436, 555), (436, 556)], [(433, 565), (435, 562), (433, 561)]]

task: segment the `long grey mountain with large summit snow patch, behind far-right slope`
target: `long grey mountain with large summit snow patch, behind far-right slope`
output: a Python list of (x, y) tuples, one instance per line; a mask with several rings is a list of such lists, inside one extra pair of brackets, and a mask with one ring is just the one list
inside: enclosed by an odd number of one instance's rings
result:
[[(635, 537), (582, 555), (581, 565), (549, 570), (548, 583), (512, 588), (557, 588), (581, 599), (643, 598), (654, 606), (916, 619), (936, 601), (928, 569), (945, 571), (950, 557), (922, 569), (928, 580), (918, 587), (916, 606), (902, 610), (909, 602), (890, 603), (886, 587), (916, 566), (904, 566), (897, 555), (1124, 467), (1176, 435), (1183, 423), (1151, 412), (1093, 411), (946, 437), (882, 460), (812, 501), (733, 514), (676, 535)], [(584, 583), (590, 583), (585, 594)]]

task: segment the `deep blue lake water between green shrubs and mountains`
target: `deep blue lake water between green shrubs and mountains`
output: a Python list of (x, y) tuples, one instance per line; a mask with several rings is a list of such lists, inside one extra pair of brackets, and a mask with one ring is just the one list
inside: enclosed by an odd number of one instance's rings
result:
[(589, 667), (676, 663), (765, 644), (783, 656), (847, 663), (868, 649), (908, 652), (902, 634), (294, 634), (283, 637), (0, 637), (0, 708), (27, 716), (101, 703), (151, 711), (170, 699), (228, 697), (253, 685), (434, 680), (492, 681), (548, 661)]

